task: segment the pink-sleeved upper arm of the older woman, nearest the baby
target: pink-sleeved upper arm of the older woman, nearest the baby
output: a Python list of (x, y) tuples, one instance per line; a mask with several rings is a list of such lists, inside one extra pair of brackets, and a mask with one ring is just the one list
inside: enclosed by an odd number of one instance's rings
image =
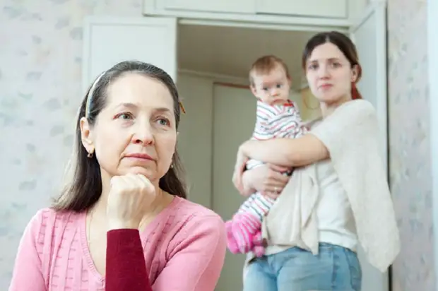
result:
[(225, 260), (226, 234), (218, 215), (194, 215), (169, 244), (155, 291), (213, 291)]

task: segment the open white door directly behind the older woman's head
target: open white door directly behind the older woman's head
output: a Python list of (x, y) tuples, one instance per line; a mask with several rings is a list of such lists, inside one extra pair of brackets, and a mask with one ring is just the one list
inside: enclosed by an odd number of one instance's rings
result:
[(83, 91), (102, 71), (119, 61), (145, 61), (177, 76), (176, 18), (85, 18)]

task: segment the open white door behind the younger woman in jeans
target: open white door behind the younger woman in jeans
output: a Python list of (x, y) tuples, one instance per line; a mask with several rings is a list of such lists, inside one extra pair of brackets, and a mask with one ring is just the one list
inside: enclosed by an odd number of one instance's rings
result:
[[(363, 18), (351, 29), (351, 37), (356, 44), (362, 66), (362, 80), (357, 83), (357, 89), (377, 110), (381, 130), (381, 152), (388, 172), (386, 5), (370, 5)], [(362, 290), (388, 291), (388, 273), (381, 273), (371, 266), (362, 249), (359, 249), (359, 259), (363, 273)]]

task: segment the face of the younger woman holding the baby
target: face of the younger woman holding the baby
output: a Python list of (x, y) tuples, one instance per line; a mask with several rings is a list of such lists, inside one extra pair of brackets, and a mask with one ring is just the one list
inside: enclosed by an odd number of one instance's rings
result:
[(306, 63), (306, 77), (313, 95), (326, 104), (351, 99), (351, 83), (357, 68), (335, 44), (326, 42), (314, 48)]

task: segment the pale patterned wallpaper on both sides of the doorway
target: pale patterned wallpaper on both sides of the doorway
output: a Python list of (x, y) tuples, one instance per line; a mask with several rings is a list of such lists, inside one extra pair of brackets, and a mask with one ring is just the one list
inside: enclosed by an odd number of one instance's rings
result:
[[(1, 1), (0, 290), (23, 228), (60, 186), (89, 14), (141, 16), (141, 0)], [(396, 291), (434, 290), (425, 18), (425, 1), (389, 0), (391, 188), (403, 239)]]

